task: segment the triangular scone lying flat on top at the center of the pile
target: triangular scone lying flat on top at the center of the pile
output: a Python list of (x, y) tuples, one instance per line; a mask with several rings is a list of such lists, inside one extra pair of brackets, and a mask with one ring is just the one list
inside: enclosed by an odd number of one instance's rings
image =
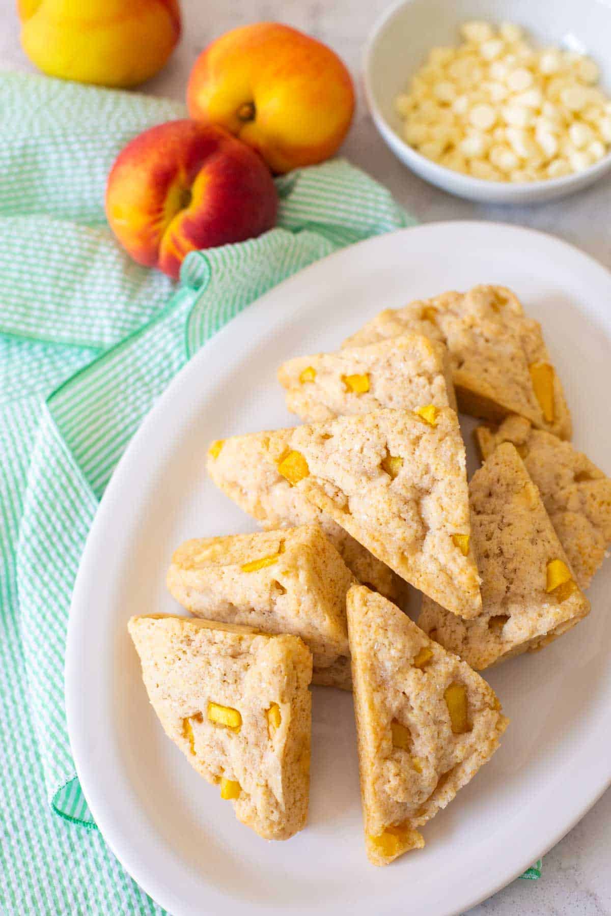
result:
[(330, 515), (406, 582), (454, 614), (479, 614), (453, 409), (377, 410), (268, 432), (267, 454), (291, 494)]

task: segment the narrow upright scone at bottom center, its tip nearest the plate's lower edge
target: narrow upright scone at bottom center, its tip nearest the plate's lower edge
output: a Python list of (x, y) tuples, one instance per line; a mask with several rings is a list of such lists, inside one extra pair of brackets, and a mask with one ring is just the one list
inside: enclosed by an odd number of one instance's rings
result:
[(387, 865), (424, 840), (498, 747), (507, 719), (464, 661), (425, 636), (379, 594), (347, 598), (366, 852)]

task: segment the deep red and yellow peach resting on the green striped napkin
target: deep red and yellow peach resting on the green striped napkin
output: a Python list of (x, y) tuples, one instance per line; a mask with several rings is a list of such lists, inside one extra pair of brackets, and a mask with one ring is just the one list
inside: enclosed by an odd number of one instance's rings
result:
[(115, 160), (106, 215), (129, 254), (178, 278), (190, 251), (242, 242), (276, 223), (278, 193), (263, 160), (222, 127), (169, 121)]

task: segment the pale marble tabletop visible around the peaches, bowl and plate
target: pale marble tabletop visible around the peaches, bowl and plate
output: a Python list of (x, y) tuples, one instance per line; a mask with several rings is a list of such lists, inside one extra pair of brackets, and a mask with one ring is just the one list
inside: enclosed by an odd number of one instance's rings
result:
[[(577, 0), (573, 0), (577, 5)], [(147, 93), (182, 99), (192, 61), (212, 38), (260, 20), (299, 27), (330, 44), (355, 76), (359, 104), (343, 153), (384, 182), (421, 222), (485, 219), (560, 235), (611, 267), (611, 177), (563, 201), (507, 209), (453, 198), (398, 163), (376, 133), (361, 91), (361, 54), (376, 16), (389, 0), (181, 0), (184, 36)], [(0, 0), (0, 70), (31, 71), (19, 47), (15, 0)], [(470, 916), (608, 916), (611, 914), (611, 790), (545, 856), (540, 881), (515, 881)]]

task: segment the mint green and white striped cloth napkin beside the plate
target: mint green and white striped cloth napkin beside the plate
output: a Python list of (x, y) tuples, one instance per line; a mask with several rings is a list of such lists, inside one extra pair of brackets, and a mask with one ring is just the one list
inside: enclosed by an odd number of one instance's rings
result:
[(0, 77), (0, 910), (10, 913), (161, 912), (94, 829), (63, 698), (71, 591), (126, 445), (172, 376), (250, 302), (412, 222), (334, 160), (278, 179), (278, 228), (191, 254), (176, 286), (115, 243), (104, 185), (128, 139), (184, 114), (146, 96)]

